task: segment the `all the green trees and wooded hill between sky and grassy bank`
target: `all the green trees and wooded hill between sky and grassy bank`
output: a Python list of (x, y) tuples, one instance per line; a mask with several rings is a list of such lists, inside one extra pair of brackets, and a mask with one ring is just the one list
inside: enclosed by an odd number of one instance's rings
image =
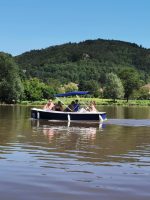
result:
[(99, 98), (149, 99), (150, 51), (136, 44), (87, 40), (33, 50), (12, 57), (0, 53), (0, 101), (52, 98), (90, 91)]

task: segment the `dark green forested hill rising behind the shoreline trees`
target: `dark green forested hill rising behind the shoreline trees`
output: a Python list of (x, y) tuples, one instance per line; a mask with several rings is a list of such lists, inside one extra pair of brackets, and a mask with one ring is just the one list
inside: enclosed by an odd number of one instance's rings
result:
[(106, 75), (125, 68), (135, 69), (143, 83), (150, 82), (150, 49), (116, 40), (86, 40), (46, 49), (32, 50), (14, 57), (24, 76), (43, 82), (53, 78), (61, 84), (94, 80), (104, 85)]

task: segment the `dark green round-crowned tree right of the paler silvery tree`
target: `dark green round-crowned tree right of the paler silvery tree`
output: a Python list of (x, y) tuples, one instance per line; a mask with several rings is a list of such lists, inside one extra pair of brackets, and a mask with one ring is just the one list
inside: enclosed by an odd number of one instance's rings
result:
[(140, 77), (135, 69), (125, 68), (119, 74), (125, 91), (125, 98), (127, 102), (132, 92), (140, 87)]

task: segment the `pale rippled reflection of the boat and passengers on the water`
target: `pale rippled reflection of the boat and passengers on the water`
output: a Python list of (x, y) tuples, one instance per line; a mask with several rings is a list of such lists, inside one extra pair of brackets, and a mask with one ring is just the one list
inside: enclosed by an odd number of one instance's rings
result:
[(42, 132), (51, 142), (54, 139), (75, 137), (81, 135), (82, 138), (95, 140), (97, 131), (103, 131), (104, 124), (101, 123), (81, 123), (66, 121), (31, 120), (31, 126), (35, 132)]

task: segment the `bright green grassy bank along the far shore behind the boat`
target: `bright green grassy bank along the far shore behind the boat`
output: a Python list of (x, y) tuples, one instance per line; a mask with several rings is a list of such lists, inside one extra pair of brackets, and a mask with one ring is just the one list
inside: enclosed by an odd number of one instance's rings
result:
[[(54, 99), (54, 103), (58, 100), (62, 101), (65, 105), (71, 103), (75, 98), (59, 98)], [(150, 100), (116, 100), (113, 99), (100, 99), (100, 98), (78, 98), (80, 105), (88, 105), (90, 101), (95, 101), (97, 106), (108, 105), (108, 106), (150, 106)], [(27, 106), (43, 106), (47, 103), (47, 100), (43, 101), (21, 101), (15, 105), (27, 105)], [(1, 104), (2, 105), (2, 104)]]

